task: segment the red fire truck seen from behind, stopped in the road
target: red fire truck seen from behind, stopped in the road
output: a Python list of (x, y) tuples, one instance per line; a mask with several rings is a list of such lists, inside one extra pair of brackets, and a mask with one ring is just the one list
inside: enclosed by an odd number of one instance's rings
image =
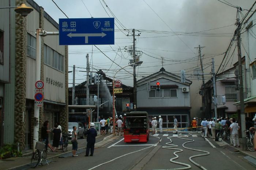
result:
[(126, 115), (124, 116), (124, 142), (147, 142), (148, 139), (148, 113), (126, 113)]

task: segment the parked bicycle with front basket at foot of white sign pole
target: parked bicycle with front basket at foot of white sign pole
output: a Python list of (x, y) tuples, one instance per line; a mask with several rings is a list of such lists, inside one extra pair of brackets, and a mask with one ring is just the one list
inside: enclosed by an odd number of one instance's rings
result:
[[(48, 164), (48, 161), (46, 159), (47, 157), (47, 149), (46, 149), (46, 144), (45, 142), (39, 142), (38, 140), (33, 140), (35, 141), (35, 152), (32, 153), (32, 157), (31, 157), (31, 162), (30, 162), (30, 166), (32, 168), (37, 167), (38, 163), (42, 164), (42, 161), (45, 160), (46, 163)], [(49, 164), (48, 164), (49, 165)]]

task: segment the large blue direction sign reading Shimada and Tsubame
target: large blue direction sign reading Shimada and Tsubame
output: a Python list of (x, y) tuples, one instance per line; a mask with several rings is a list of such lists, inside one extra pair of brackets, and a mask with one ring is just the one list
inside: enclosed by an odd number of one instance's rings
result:
[(114, 18), (59, 19), (59, 45), (113, 45)]

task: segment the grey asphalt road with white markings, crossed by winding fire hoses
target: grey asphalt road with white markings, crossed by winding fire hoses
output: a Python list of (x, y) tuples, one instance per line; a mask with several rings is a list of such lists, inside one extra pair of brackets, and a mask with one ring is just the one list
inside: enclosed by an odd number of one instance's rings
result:
[[(96, 148), (93, 157), (84, 157), (84, 152), (78, 157), (56, 158), (53, 159), (49, 165), (39, 166), (37, 169), (94, 169), (94, 170), (157, 170), (157, 169), (176, 169), (186, 167), (171, 163), (170, 159), (176, 156), (170, 150), (162, 148), (167, 146), (166, 143), (170, 142), (167, 137), (173, 136), (172, 133), (159, 134), (158, 136), (150, 136), (147, 143), (124, 143), (123, 136), (110, 143)], [(158, 138), (159, 137), (159, 138)], [(161, 138), (161, 139), (160, 139)], [(219, 147), (212, 139), (208, 138), (207, 142), (200, 134), (189, 136), (186, 139), (195, 140), (195, 142), (184, 144), (185, 147), (204, 150), (210, 152), (209, 155), (203, 157), (192, 158), (193, 161), (202, 165), (207, 170), (254, 170), (239, 153), (231, 153), (229, 150)], [(159, 142), (161, 140), (161, 142)], [(199, 167), (195, 166), (189, 161), (189, 157), (198, 154), (204, 154), (199, 151), (192, 151), (182, 147), (182, 144), (189, 140), (171, 137), (172, 143), (183, 151), (177, 153), (177, 162), (187, 163), (191, 169), (197, 170)]]

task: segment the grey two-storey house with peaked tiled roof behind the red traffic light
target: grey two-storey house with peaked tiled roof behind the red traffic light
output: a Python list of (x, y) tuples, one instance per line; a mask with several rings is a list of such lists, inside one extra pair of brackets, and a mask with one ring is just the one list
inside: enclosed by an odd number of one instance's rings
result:
[[(160, 90), (156, 89), (160, 82)], [(162, 67), (159, 72), (151, 74), (136, 82), (137, 111), (146, 111), (151, 117), (162, 116), (163, 128), (173, 128), (173, 116), (178, 120), (178, 127), (190, 125), (190, 80), (181, 82), (181, 77), (166, 72)]]

